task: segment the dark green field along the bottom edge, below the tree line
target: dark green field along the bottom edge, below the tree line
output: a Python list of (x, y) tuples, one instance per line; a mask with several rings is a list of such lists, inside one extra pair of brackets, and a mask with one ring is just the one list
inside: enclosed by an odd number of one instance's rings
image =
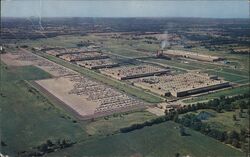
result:
[(242, 152), (188, 128), (186, 131), (190, 136), (180, 136), (178, 126), (169, 121), (129, 133), (84, 141), (47, 156), (173, 157), (177, 152), (192, 157), (244, 156)]

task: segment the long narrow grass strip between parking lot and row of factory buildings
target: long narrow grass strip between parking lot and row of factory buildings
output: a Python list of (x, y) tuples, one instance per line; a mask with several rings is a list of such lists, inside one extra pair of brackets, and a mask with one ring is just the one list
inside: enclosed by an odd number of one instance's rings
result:
[(100, 74), (100, 73), (97, 73), (93, 70), (89, 70), (87, 68), (83, 68), (83, 67), (79, 67), (75, 64), (71, 64), (67, 61), (64, 61), (60, 58), (57, 58), (57, 57), (54, 57), (54, 56), (51, 56), (51, 55), (47, 55), (47, 54), (42, 54), (42, 53), (39, 53), (39, 55), (57, 63), (57, 64), (61, 64), (67, 68), (70, 68), (72, 70), (75, 70), (81, 74), (84, 74), (85, 76), (89, 76), (93, 79), (96, 79), (102, 83), (105, 83), (105, 84), (108, 84), (112, 87), (115, 87), (117, 89), (119, 89), (120, 91), (123, 91), (123, 92), (126, 92), (132, 96), (135, 96), (135, 97), (138, 97), (140, 99), (143, 99), (147, 102), (150, 102), (150, 103), (159, 103), (159, 102), (162, 102), (163, 101), (163, 98), (158, 96), (158, 95), (155, 95), (153, 93), (149, 93), (149, 92), (146, 92), (145, 90), (141, 89), (141, 88), (137, 88), (137, 87), (134, 87), (132, 85), (128, 85), (127, 83), (124, 83), (124, 82), (121, 82), (119, 80), (116, 80), (116, 79), (113, 79), (113, 78), (110, 78), (108, 76), (105, 76), (103, 74)]

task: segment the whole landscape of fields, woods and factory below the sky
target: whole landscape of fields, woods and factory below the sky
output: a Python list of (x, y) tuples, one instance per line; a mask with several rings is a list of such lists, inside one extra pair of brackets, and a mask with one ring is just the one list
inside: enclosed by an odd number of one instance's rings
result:
[(0, 156), (248, 157), (245, 18), (1, 18)]

